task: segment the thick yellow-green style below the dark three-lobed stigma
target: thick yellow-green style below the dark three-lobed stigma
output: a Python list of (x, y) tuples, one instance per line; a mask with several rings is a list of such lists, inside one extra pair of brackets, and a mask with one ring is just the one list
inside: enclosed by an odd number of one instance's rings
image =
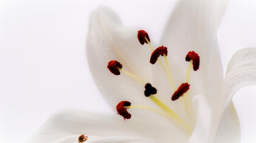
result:
[(148, 98), (151, 99), (155, 104), (157, 104), (162, 110), (164, 110), (171, 117), (171, 120), (174, 120), (173, 122), (176, 127), (181, 129), (183, 132), (186, 132), (189, 136), (192, 134), (192, 129), (174, 111), (168, 108), (163, 102), (157, 99), (154, 95), (151, 94)]

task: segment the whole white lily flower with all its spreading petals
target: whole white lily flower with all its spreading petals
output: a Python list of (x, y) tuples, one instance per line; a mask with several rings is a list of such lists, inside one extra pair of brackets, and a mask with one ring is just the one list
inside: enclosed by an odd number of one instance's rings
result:
[[(163, 68), (149, 63), (152, 51), (149, 45), (139, 43), (138, 27), (123, 25), (114, 11), (99, 6), (91, 13), (87, 36), (92, 76), (113, 110), (123, 100), (149, 110), (129, 109), (132, 118), (126, 121), (119, 115), (62, 110), (53, 114), (28, 143), (77, 143), (81, 134), (88, 137), (85, 143), (240, 143), (232, 96), (238, 88), (256, 83), (256, 49), (235, 53), (223, 80), (216, 34), (227, 5), (227, 1), (178, 1), (160, 41), (151, 42), (155, 47), (168, 48), (167, 58), (158, 58), (158, 63), (167, 59)], [(190, 64), (185, 56), (189, 51), (200, 56), (200, 70), (186, 76)], [(139, 82), (131, 75), (111, 74), (106, 67), (111, 60), (119, 61), (122, 71), (132, 73)], [(190, 84), (189, 94), (172, 101), (176, 87), (185, 81)], [(145, 97), (141, 83), (157, 88), (155, 98), (166, 107), (152, 102), (153, 95)], [(169, 116), (161, 109), (173, 112), (167, 111)]]

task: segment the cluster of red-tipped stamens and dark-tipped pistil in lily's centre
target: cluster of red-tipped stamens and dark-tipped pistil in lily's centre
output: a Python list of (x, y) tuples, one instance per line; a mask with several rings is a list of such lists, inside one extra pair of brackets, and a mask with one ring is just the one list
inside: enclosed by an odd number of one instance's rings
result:
[[(180, 97), (183, 97), (183, 101), (179, 100), (180, 104), (183, 102), (183, 105), (184, 105), (183, 112), (185, 113), (186, 116), (193, 118), (194, 110), (191, 110), (191, 109), (193, 109), (193, 106), (191, 105), (191, 100), (190, 100), (189, 93), (188, 93), (189, 86), (190, 86), (188, 83), (189, 83), (189, 77), (190, 77), (192, 65), (193, 65), (193, 69), (195, 71), (199, 69), (200, 57), (198, 56), (198, 54), (196, 54), (194, 51), (192, 51), (192, 52), (188, 52), (188, 54), (186, 55), (185, 60), (190, 62), (188, 70), (187, 70), (187, 74), (186, 74), (186, 80), (185, 80), (185, 83), (182, 83), (181, 86), (177, 89), (175, 87), (174, 81), (171, 77), (171, 72), (170, 72), (168, 59), (167, 59), (167, 54), (168, 54), (167, 47), (160, 46), (154, 50), (154, 48), (150, 44), (149, 36), (144, 30), (138, 31), (137, 37), (138, 37), (140, 44), (143, 45), (146, 43), (151, 48), (152, 54), (150, 57), (150, 63), (153, 65), (156, 62), (158, 62), (159, 65), (161, 66), (162, 70), (164, 71), (165, 75), (167, 76), (169, 83), (171, 85), (172, 91), (175, 91), (172, 96), (170, 95), (171, 100), (175, 101), (175, 100), (179, 99)], [(159, 59), (160, 55), (164, 56), (165, 67), (163, 66), (162, 62)], [(171, 121), (176, 127), (178, 127), (178, 129), (180, 129), (182, 132), (185, 132), (189, 136), (192, 134), (191, 127), (185, 121), (183, 121), (183, 119), (180, 118), (173, 110), (171, 110), (161, 100), (159, 100), (156, 96), (154, 96), (154, 94), (157, 94), (157, 89), (152, 87), (151, 84), (146, 83), (139, 77), (123, 70), (122, 64), (119, 63), (118, 61), (114, 61), (114, 60), (110, 61), (108, 63), (107, 67), (110, 70), (110, 72), (114, 75), (120, 75), (120, 72), (122, 72), (122, 73), (126, 74), (127, 76), (132, 77), (135, 80), (137, 80), (138, 82), (140, 82), (143, 86), (145, 86), (145, 91), (144, 91), (145, 96), (148, 97), (149, 99), (151, 99), (156, 105), (158, 105), (158, 107), (161, 108), (161, 110), (157, 110), (152, 107), (145, 106), (145, 105), (131, 105), (131, 102), (129, 102), (129, 101), (121, 101), (117, 104), (116, 109), (117, 109), (118, 114), (121, 115), (124, 118), (124, 120), (130, 119), (132, 117), (132, 115), (127, 111), (127, 109), (143, 108), (146, 110), (151, 110), (151, 111), (157, 112), (158, 114), (162, 115), (163, 117), (165, 117), (166, 119)], [(159, 94), (158, 94), (158, 96), (161, 97)]]

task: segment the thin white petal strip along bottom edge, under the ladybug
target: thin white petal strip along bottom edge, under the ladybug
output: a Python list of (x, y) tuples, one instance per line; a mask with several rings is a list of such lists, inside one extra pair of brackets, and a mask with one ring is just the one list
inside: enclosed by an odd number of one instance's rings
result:
[[(80, 135), (73, 135), (61, 138), (52, 143), (78, 143), (78, 138)], [(152, 139), (146, 138), (136, 138), (136, 137), (120, 137), (120, 136), (111, 136), (111, 137), (99, 137), (99, 136), (90, 136), (87, 135), (88, 140), (83, 143), (157, 143)]]

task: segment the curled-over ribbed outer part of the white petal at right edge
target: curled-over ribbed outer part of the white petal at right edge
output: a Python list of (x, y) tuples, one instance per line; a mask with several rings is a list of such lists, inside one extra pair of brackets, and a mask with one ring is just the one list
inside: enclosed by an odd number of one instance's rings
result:
[(237, 89), (256, 84), (256, 48), (238, 50), (230, 59), (223, 82), (224, 107)]

